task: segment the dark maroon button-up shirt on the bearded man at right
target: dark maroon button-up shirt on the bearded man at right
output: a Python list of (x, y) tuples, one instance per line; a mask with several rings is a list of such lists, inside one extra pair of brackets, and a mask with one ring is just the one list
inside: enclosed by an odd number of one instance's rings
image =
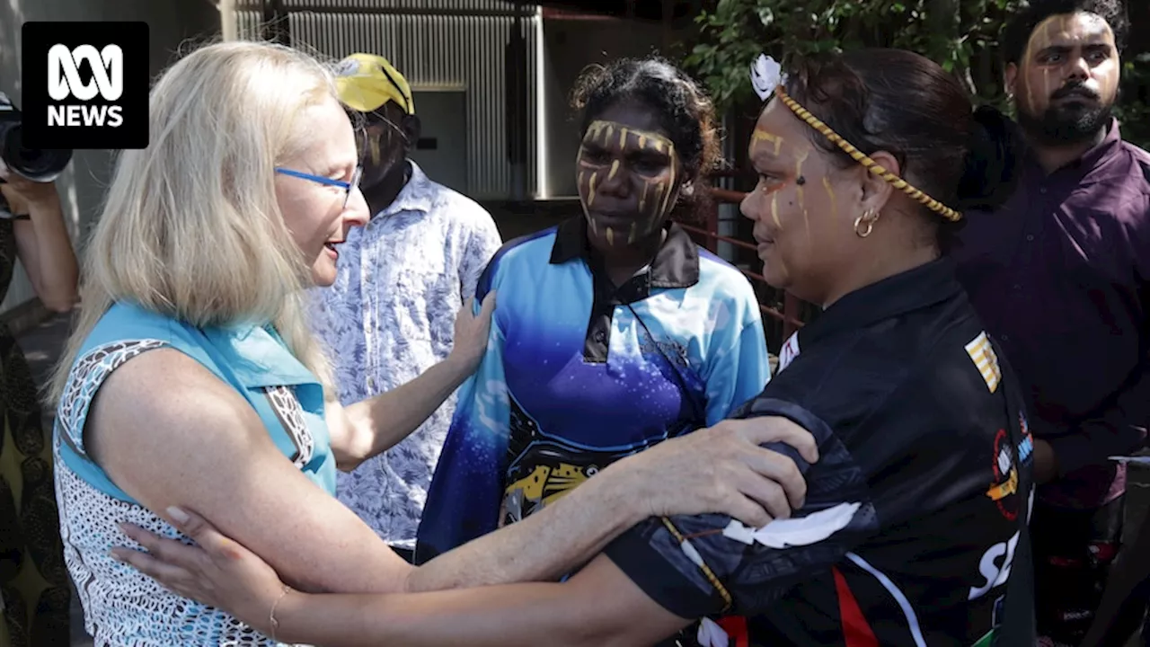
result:
[(1141, 446), (1150, 423), (1150, 153), (1114, 121), (1049, 175), (1027, 155), (1013, 197), (967, 216), (959, 280), (1022, 382), (1032, 432), (1058, 457), (1038, 497), (1114, 498), (1126, 470), (1106, 457)]

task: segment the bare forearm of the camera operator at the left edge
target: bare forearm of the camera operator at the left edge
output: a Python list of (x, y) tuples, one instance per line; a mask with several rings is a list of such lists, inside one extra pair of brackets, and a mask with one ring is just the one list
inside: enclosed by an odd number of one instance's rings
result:
[(67, 312), (76, 305), (78, 271), (60, 197), (53, 192), (29, 203), (28, 212), (36, 233), (37, 267), (30, 274), (34, 272), (38, 276), (38, 296), (47, 307)]

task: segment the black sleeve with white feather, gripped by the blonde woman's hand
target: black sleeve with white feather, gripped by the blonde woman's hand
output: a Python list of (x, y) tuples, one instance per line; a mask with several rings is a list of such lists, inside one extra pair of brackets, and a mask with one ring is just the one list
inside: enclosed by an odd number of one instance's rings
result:
[(815, 465), (789, 446), (768, 446), (790, 456), (807, 480), (806, 504), (793, 518), (758, 532), (726, 515), (651, 518), (605, 550), (652, 600), (678, 617), (760, 612), (877, 531), (866, 475), (822, 419), (791, 402), (766, 397), (734, 417), (759, 416), (789, 418), (819, 444)]

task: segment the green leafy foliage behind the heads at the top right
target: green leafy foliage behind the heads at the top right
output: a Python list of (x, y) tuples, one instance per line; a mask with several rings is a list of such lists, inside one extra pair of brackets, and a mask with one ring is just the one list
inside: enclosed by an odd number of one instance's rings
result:
[[(760, 53), (795, 55), (856, 47), (900, 47), (954, 73), (982, 102), (1006, 107), (998, 39), (1020, 0), (718, 0), (696, 18), (698, 38), (687, 68), (712, 92), (720, 111), (751, 102), (747, 79)], [(1117, 107), (1122, 135), (1150, 144), (1150, 59), (1125, 62)]]

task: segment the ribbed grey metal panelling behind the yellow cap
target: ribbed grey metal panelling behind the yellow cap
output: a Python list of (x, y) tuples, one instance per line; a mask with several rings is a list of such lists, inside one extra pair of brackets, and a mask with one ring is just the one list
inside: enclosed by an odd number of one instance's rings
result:
[[(237, 35), (258, 39), (266, 25), (264, 0), (236, 3)], [(512, 165), (507, 159), (507, 86), (505, 51), (514, 25), (515, 6), (504, 0), (279, 0), (291, 43), (313, 53), (339, 59), (351, 52), (386, 56), (404, 73), (414, 91), (466, 90), (468, 193), (476, 199), (511, 196)], [(528, 195), (537, 187), (536, 66), (538, 10), (528, 6), (522, 17), (527, 40), (527, 169)], [(419, 105), (416, 104), (416, 112)]]

